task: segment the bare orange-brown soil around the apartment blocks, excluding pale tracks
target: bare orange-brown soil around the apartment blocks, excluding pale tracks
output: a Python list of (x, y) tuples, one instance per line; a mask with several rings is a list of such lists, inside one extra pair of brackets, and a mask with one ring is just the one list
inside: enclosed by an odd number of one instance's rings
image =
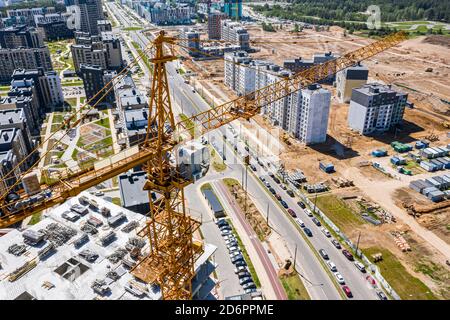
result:
[[(298, 57), (310, 59), (314, 53), (331, 51), (335, 54), (343, 54), (373, 41), (356, 35), (344, 37), (343, 30), (339, 27), (332, 27), (330, 31), (322, 32), (305, 30), (298, 35), (288, 31), (264, 32), (256, 26), (249, 27), (248, 30), (251, 41), (258, 42), (253, 47), (259, 49), (251, 56), (279, 65), (282, 65), (285, 59)], [(289, 138), (287, 144), (282, 143), (286, 151), (281, 154), (285, 168), (287, 170), (301, 169), (309, 183), (326, 182), (331, 186), (333, 186), (331, 179), (339, 176), (346, 178), (343, 172), (347, 172), (349, 168), (358, 168), (360, 174), (369, 178), (370, 181), (392, 182), (391, 178), (371, 166), (360, 166), (360, 163), (373, 159), (370, 156), (371, 151), (384, 148), (392, 154), (390, 142), (398, 140), (411, 143), (427, 138), (431, 134), (438, 136), (441, 145), (450, 143), (450, 139), (446, 136), (449, 129), (443, 125), (443, 122), (450, 121), (450, 105), (442, 101), (450, 101), (450, 83), (448, 81), (450, 51), (447, 39), (437, 36), (417, 37), (404, 41), (395, 48), (364, 62), (369, 68), (369, 82), (378, 81), (392, 84), (394, 89), (408, 93), (408, 100), (414, 103), (413, 109), (405, 110), (402, 131), (398, 131), (396, 135), (386, 133), (381, 137), (365, 137), (352, 132), (347, 125), (349, 105), (339, 103), (336, 99), (335, 88), (325, 86), (332, 91), (327, 141), (324, 144), (306, 147), (295, 139)], [(223, 84), (223, 60), (195, 62), (186, 60), (184, 64), (198, 74), (198, 80), (205, 87), (218, 88), (218, 90), (211, 90), (211, 93), (217, 98), (223, 98), (223, 94), (229, 99), (236, 97)], [(270, 129), (270, 125), (261, 116), (255, 116), (254, 120), (266, 129)], [(245, 122), (243, 123), (246, 125)], [(336, 173), (328, 175), (319, 170), (320, 161), (332, 162), (335, 165)], [(332, 193), (364, 196), (364, 193), (357, 188), (336, 189), (334, 187)], [(419, 199), (409, 190), (406, 193), (400, 192), (394, 197), (398, 198), (398, 201), (408, 201), (408, 199), (417, 201)], [(397, 206), (401, 207), (401, 203), (397, 203)], [(446, 209), (433, 212), (433, 214), (424, 214), (418, 221), (448, 243), (449, 211)], [(450, 298), (448, 266), (440, 264), (439, 275), (437, 275), (438, 271), (431, 275), (417, 271), (419, 261), (422, 264), (430, 265), (436, 261), (443, 261), (443, 257), (439, 256), (439, 253), (428, 242), (419, 238), (407, 225), (395, 223), (376, 227), (364, 223), (357, 229), (345, 230), (354, 241), (359, 231), (363, 234), (361, 238), (363, 248), (380, 246), (389, 249), (401, 260), (408, 271), (420, 278), (434, 292), (442, 298)], [(404, 253), (397, 247), (394, 237), (390, 234), (392, 231), (404, 232), (404, 237), (412, 247), (411, 252)]]

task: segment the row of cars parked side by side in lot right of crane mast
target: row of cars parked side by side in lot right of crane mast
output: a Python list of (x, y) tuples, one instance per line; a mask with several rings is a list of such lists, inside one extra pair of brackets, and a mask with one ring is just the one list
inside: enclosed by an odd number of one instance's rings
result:
[(256, 292), (256, 285), (248, 271), (247, 263), (245, 262), (239, 243), (233, 234), (230, 224), (227, 220), (221, 218), (216, 221), (216, 225), (225, 240), (231, 262), (235, 265), (234, 273), (236, 273), (239, 278), (239, 284), (242, 286), (245, 293)]

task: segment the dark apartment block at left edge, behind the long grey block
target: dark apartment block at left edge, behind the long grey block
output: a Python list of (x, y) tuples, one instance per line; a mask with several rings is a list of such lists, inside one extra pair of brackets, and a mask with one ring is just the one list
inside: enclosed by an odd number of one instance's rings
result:
[(26, 25), (0, 29), (0, 47), (2, 49), (40, 48), (44, 45), (42, 35)]

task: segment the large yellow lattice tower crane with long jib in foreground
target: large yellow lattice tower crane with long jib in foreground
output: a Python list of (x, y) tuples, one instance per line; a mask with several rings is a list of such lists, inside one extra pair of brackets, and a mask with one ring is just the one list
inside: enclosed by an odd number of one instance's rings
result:
[[(150, 62), (153, 64), (150, 116), (144, 141), (139, 146), (124, 150), (91, 167), (63, 170), (57, 178), (45, 179), (46, 183), (38, 183), (32, 190), (18, 189), (18, 184), (6, 184), (9, 187), (0, 197), (0, 228), (11, 226), (34, 213), (61, 204), (88, 188), (142, 165), (147, 173), (144, 189), (149, 194), (150, 212), (146, 226), (139, 231), (139, 235), (148, 238), (150, 248), (148, 255), (142, 258), (131, 272), (146, 283), (157, 283), (163, 299), (191, 299), (194, 263), (203, 248), (200, 241), (193, 239), (200, 223), (186, 213), (185, 207), (184, 188), (192, 181), (183, 178), (176, 166), (170, 162), (170, 153), (180, 144), (178, 137), (189, 132), (191, 123), (195, 123), (203, 135), (236, 119), (250, 119), (264, 105), (353, 66), (405, 39), (403, 32), (392, 34), (335, 60), (316, 65), (290, 78), (175, 123), (166, 64), (176, 59), (174, 46), (178, 45), (180, 39), (169, 37), (161, 31), (150, 48), (144, 51), (144, 54), (150, 52)], [(105, 90), (109, 87), (107, 85)], [(106, 95), (103, 92), (99, 94)], [(69, 128), (74, 125), (75, 123), (67, 123)], [(22, 179), (29, 177), (24, 176)], [(150, 196), (152, 192), (160, 194), (161, 197), (153, 201)]]

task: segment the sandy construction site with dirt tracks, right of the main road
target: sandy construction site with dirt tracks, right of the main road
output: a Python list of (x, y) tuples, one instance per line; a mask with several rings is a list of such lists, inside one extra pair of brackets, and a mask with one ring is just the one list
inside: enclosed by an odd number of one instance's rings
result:
[[(339, 56), (372, 42), (357, 35), (344, 34), (339, 27), (331, 27), (329, 31), (306, 29), (299, 33), (289, 31), (292, 28), (283, 25), (282, 30), (266, 32), (260, 26), (248, 26), (256, 51), (251, 54), (252, 58), (283, 65), (286, 59), (308, 59), (316, 53), (332, 52)], [(273, 42), (278, 43), (274, 45)], [(305, 146), (288, 134), (281, 133), (282, 145), (279, 147), (280, 163), (284, 168), (300, 169), (309, 184), (326, 185), (331, 189), (326, 194), (336, 199), (356, 196), (378, 203), (377, 206), (388, 213), (389, 223), (383, 221), (374, 225), (361, 218), (360, 212), (364, 209), (360, 205), (350, 204), (353, 208), (351, 215), (354, 215), (352, 219), (359, 222), (342, 223), (340, 226), (352, 241), (356, 241), (359, 233), (363, 232), (364, 236), (360, 239), (363, 248), (389, 248), (409, 272), (436, 289), (444, 298), (448, 298), (450, 279), (446, 265), (448, 257), (436, 251), (421, 235), (424, 235), (423, 230), (430, 230), (445, 243), (450, 243), (450, 200), (432, 204), (425, 197), (417, 196), (407, 187), (411, 181), (409, 177), (399, 175), (388, 158), (374, 159), (371, 152), (384, 149), (389, 150), (389, 155), (396, 154), (390, 146), (392, 141), (411, 144), (427, 140), (433, 146), (447, 146), (450, 143), (447, 134), (450, 128), (450, 52), (446, 50), (449, 45), (448, 37), (421, 36), (408, 39), (364, 62), (369, 69), (369, 82), (389, 84), (395, 90), (408, 94), (412, 108), (405, 110), (401, 131), (374, 137), (352, 131), (347, 124), (349, 105), (338, 101), (335, 87), (324, 85), (332, 93), (326, 143)], [(223, 59), (186, 60), (184, 68), (195, 75), (190, 78), (194, 87), (199, 92), (207, 92), (203, 93), (203, 97), (210, 104), (217, 105), (236, 97), (224, 84)], [(261, 115), (255, 115), (252, 123), (243, 122), (242, 125), (249, 130), (254, 129), (255, 125), (267, 131), (273, 129)], [(333, 163), (335, 173), (330, 175), (318, 170), (320, 162)], [(379, 166), (374, 167), (374, 163)], [(414, 175), (429, 176), (418, 165), (411, 163), (408, 167)], [(314, 195), (310, 198), (314, 199)], [(332, 211), (332, 207), (328, 209)], [(410, 217), (414, 217), (414, 221), (404, 223)], [(336, 220), (340, 219), (336, 217)], [(383, 219), (375, 217), (375, 220)], [(396, 242), (399, 235), (407, 239), (400, 242), (406, 243), (408, 250)], [(437, 271), (423, 272), (423, 264), (435, 265)]]

